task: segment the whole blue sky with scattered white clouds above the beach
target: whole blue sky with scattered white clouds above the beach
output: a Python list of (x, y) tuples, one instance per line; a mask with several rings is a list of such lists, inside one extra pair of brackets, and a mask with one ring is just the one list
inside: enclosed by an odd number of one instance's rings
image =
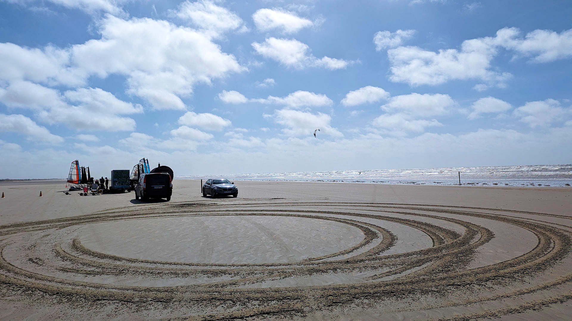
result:
[(570, 1), (0, 0), (0, 178), (143, 157), (175, 175), (570, 163), (570, 17)]

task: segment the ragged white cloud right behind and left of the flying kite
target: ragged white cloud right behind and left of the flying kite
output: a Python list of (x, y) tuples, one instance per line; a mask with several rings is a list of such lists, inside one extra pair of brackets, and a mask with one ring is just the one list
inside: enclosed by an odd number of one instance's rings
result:
[(276, 123), (284, 125), (283, 133), (293, 137), (310, 136), (315, 129), (320, 129), (321, 135), (343, 137), (337, 129), (330, 126), (332, 118), (323, 113), (312, 114), (304, 111), (282, 109), (276, 110), (271, 116)]

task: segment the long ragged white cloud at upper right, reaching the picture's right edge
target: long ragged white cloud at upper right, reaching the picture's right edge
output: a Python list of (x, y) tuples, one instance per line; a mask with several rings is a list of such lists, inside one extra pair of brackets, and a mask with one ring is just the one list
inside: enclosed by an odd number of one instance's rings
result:
[[(491, 61), (499, 48), (513, 50), (517, 55), (532, 57), (534, 62), (549, 62), (572, 56), (572, 29), (558, 34), (549, 30), (534, 30), (525, 38), (517, 28), (503, 28), (495, 37), (463, 41), (460, 50), (428, 51), (415, 46), (387, 51), (392, 66), (390, 80), (411, 86), (440, 85), (451, 80), (476, 79), (488, 85), (505, 87), (510, 73), (492, 70)], [(483, 86), (475, 89), (486, 89)]]

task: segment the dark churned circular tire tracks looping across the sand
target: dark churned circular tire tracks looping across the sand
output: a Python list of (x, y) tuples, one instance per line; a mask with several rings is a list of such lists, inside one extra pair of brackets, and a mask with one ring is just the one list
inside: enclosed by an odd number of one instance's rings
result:
[[(348, 224), (358, 228), (364, 239), (342, 251), (293, 263), (212, 264), (111, 255), (84, 246), (73, 233), (76, 228), (92, 223), (230, 215), (276, 219), (289, 216)], [(546, 218), (559, 219), (561, 223), (543, 220)], [(470, 268), (479, 247), (495, 238), (490, 228), (471, 222), (475, 219), (530, 231), (537, 243), (530, 251), (509, 260)], [(53, 300), (81, 298), (82, 304), (113, 300), (124, 302), (125, 311), (133, 310), (133, 304), (138, 307), (135, 310), (145, 310), (161, 302), (165, 308), (178, 311), (174, 313), (177, 317), (190, 319), (295, 317), (316, 313), (335, 316), (340, 313), (336, 311), (356, 306), (377, 314), (441, 309), (444, 319), (483, 318), (572, 298), (572, 292), (567, 291), (572, 271), (562, 272), (561, 266), (572, 262), (569, 220), (564, 215), (489, 208), (281, 200), (117, 208), (72, 218), (0, 226), (0, 283), (5, 293), (34, 290), (48, 294)], [(416, 251), (384, 254), (404, 237), (384, 227), (387, 222), (422, 232), (432, 245)], [(17, 260), (7, 255), (14, 248), (21, 252)], [(360, 275), (357, 280), (353, 276), (356, 274)], [(304, 283), (306, 279), (316, 282), (332, 275), (337, 282)], [(156, 284), (169, 285), (114, 282), (125, 278), (151, 279), (157, 280)], [(280, 282), (295, 285), (276, 286)], [(30, 300), (34, 300), (34, 291), (29, 291)], [(422, 298), (431, 298), (431, 303)], [(524, 301), (499, 307), (499, 299), (507, 298)], [(464, 315), (447, 312), (449, 307), (473, 303), (485, 307), (490, 304), (491, 308)]]

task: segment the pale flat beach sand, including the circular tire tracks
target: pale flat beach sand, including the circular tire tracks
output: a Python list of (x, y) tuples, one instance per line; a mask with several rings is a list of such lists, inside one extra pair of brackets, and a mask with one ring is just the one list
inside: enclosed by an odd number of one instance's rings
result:
[(236, 183), (144, 203), (0, 182), (0, 318), (572, 313), (572, 188)]

